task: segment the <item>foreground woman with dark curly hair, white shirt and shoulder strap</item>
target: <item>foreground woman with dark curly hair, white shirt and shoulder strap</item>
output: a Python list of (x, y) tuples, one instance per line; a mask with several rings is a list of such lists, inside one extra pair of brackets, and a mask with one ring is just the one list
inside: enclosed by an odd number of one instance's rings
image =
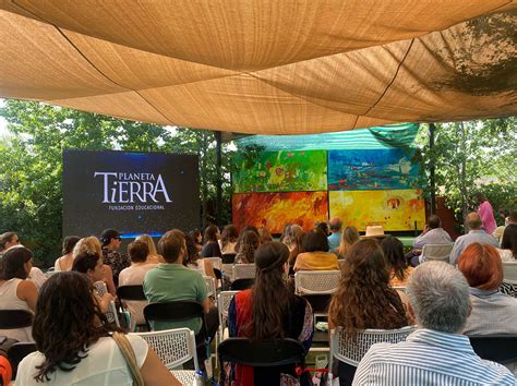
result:
[(39, 351), (20, 363), (16, 385), (132, 385), (120, 339), (134, 353), (142, 385), (181, 385), (144, 339), (108, 323), (91, 290), (92, 284), (74, 272), (47, 280), (33, 327)]

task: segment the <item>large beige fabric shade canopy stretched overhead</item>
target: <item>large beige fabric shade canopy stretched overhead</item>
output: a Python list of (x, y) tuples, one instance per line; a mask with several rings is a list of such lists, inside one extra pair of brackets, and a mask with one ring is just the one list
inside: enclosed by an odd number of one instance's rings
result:
[(517, 112), (508, 0), (0, 0), (0, 96), (241, 133)]

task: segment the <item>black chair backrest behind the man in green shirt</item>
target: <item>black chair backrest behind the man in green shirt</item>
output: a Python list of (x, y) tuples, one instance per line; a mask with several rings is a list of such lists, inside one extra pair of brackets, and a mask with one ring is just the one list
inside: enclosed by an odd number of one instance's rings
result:
[(201, 337), (206, 337), (205, 313), (203, 305), (194, 301), (176, 301), (167, 303), (149, 303), (144, 307), (144, 317), (151, 328), (151, 322), (182, 322), (200, 317), (203, 322)]

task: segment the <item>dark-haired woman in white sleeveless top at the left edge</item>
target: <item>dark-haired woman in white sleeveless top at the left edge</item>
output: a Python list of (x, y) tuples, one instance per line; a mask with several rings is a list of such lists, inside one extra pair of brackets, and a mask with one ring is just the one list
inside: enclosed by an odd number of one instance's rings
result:
[[(10, 248), (4, 254), (0, 272), (0, 310), (35, 311), (38, 299), (36, 285), (27, 279), (33, 252), (25, 246)], [(32, 341), (32, 328), (0, 329), (0, 336), (19, 341)]]

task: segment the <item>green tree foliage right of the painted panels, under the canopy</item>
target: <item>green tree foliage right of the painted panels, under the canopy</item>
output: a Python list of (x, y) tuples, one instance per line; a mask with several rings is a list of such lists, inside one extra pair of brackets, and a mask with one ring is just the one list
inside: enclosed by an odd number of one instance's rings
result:
[(434, 149), (429, 148), (429, 130), (422, 124), (417, 145), (425, 178), (434, 162), (437, 195), (458, 219), (477, 206), (482, 192), (498, 208), (517, 208), (517, 121), (515, 117), (483, 121), (437, 123)]

